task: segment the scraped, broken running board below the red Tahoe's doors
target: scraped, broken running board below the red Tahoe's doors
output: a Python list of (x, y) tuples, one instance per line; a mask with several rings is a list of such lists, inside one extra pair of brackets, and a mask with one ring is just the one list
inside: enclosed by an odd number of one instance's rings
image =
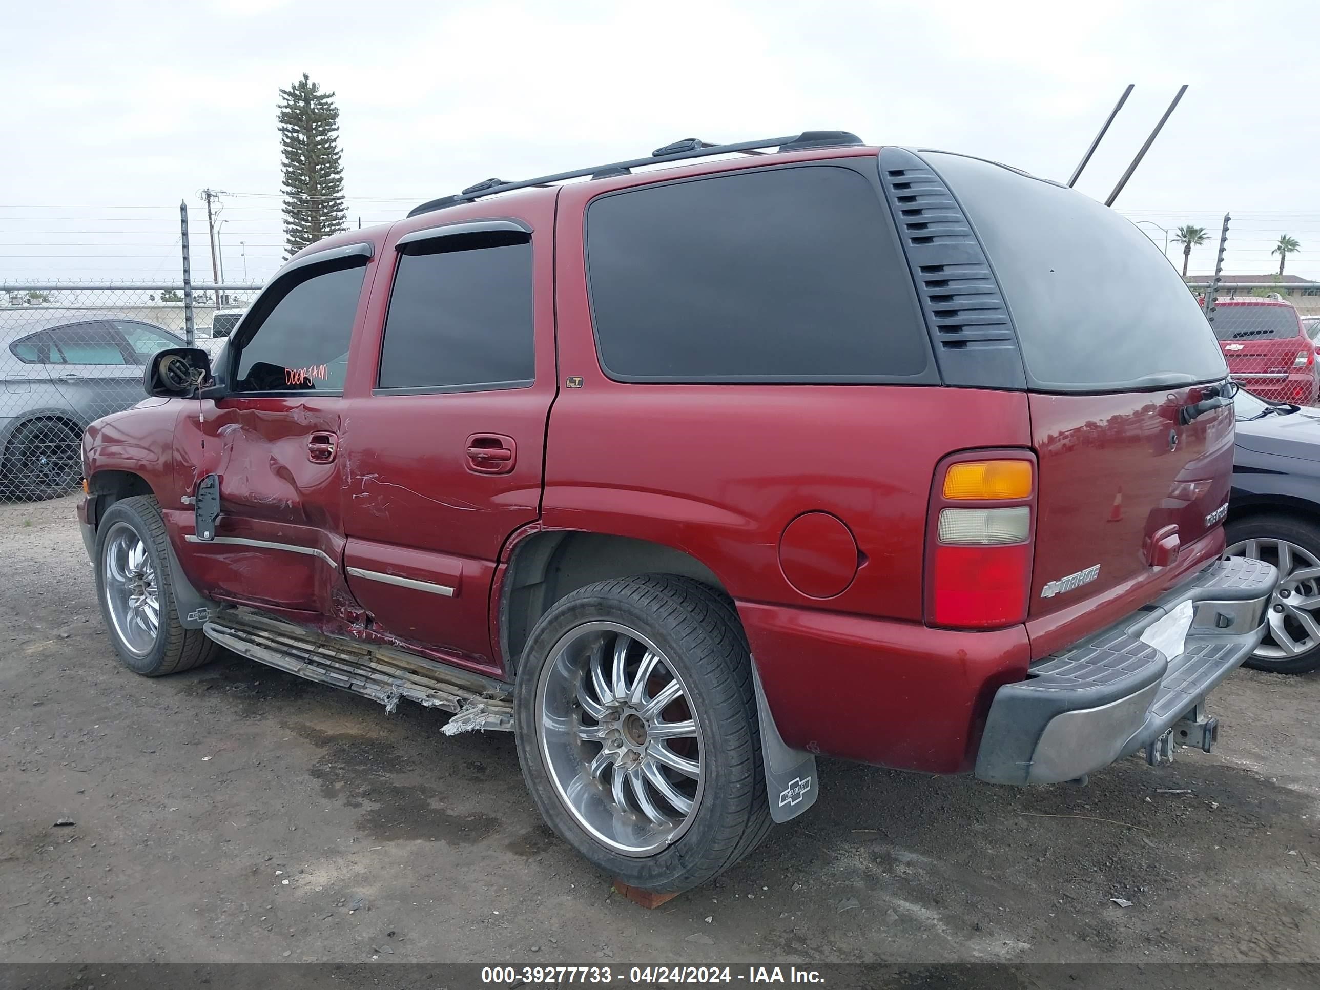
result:
[(249, 660), (351, 690), (393, 711), (400, 698), (453, 711), (445, 735), (473, 729), (513, 730), (512, 688), (395, 647), (326, 636), (251, 609), (226, 609), (202, 630)]

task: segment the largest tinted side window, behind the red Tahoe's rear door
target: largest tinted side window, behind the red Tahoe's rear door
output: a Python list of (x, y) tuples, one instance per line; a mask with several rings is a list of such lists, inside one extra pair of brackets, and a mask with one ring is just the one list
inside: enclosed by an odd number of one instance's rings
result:
[(933, 380), (880, 194), (837, 166), (742, 172), (594, 201), (601, 363), (631, 381)]

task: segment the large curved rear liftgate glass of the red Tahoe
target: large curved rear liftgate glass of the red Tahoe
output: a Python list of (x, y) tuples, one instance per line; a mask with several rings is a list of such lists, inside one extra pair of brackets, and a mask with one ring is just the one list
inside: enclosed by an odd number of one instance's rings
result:
[(923, 157), (985, 246), (1035, 388), (1114, 391), (1228, 375), (1192, 293), (1129, 220), (999, 165)]

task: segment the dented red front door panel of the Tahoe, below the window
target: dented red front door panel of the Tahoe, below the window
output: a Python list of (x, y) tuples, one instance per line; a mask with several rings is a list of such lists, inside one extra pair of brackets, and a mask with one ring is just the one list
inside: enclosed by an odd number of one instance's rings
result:
[(213, 541), (183, 537), (183, 568), (222, 601), (329, 612), (339, 585), (343, 399), (202, 401), (191, 484), (220, 478)]

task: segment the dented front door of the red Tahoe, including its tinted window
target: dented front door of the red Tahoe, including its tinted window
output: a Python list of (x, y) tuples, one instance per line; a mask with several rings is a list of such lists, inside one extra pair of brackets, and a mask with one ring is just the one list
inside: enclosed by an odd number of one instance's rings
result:
[(191, 471), (181, 487), (195, 494), (219, 478), (215, 537), (193, 520), (178, 541), (183, 569), (213, 598), (322, 615), (348, 598), (339, 437), (374, 249), (339, 240), (348, 243), (300, 255), (267, 285), (219, 359), (228, 395), (198, 400), (195, 426), (181, 420)]

